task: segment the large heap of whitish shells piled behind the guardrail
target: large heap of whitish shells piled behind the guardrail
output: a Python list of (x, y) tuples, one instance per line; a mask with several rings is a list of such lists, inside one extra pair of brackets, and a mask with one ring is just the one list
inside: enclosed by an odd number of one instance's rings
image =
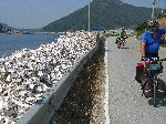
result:
[(66, 32), (51, 44), (1, 58), (0, 124), (14, 124), (95, 43), (95, 32)]

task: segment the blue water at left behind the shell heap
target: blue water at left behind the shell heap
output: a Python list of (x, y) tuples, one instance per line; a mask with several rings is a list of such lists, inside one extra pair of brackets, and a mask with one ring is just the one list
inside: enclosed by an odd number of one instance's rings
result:
[(41, 44), (56, 41), (60, 34), (0, 34), (0, 58), (11, 55), (13, 52), (21, 49), (38, 49)]

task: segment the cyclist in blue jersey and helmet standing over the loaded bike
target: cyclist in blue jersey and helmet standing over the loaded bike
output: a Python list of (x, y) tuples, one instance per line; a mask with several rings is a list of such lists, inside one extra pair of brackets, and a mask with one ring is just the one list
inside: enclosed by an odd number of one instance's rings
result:
[[(166, 29), (158, 28), (157, 19), (152, 19), (147, 22), (148, 30), (142, 35), (141, 52), (142, 60), (147, 60), (149, 58), (158, 58), (158, 50), (160, 43), (166, 43), (162, 40), (163, 35), (166, 34)], [(148, 63), (145, 61), (145, 66)]]

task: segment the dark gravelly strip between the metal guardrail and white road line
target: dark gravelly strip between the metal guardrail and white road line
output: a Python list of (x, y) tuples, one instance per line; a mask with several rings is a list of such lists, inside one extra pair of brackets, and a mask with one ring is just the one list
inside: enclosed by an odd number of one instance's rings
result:
[(89, 59), (73, 81), (69, 94), (51, 123), (104, 124), (104, 50), (101, 42), (98, 51)]

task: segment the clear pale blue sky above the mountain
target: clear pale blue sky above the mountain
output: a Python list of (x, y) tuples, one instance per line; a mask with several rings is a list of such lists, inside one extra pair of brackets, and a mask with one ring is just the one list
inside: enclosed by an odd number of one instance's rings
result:
[[(152, 0), (122, 0), (126, 3), (151, 7)], [(0, 0), (0, 22), (20, 29), (42, 28), (86, 6), (89, 0)], [(157, 7), (166, 9), (166, 0)]]

